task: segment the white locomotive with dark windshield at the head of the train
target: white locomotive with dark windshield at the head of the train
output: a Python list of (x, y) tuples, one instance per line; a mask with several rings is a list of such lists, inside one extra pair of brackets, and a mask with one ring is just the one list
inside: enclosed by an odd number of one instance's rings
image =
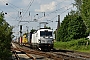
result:
[(51, 29), (41, 28), (28, 35), (30, 47), (39, 50), (53, 49), (53, 31)]

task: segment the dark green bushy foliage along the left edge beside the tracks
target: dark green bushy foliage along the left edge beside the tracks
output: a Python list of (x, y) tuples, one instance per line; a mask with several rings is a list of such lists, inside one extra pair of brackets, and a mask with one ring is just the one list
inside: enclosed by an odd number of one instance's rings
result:
[(9, 60), (12, 27), (4, 20), (3, 12), (0, 13), (0, 60)]

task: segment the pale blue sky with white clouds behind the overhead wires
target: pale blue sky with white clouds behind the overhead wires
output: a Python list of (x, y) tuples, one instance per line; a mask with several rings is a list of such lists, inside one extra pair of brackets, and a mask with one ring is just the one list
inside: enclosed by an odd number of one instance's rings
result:
[(47, 22), (47, 26), (53, 31), (57, 28), (58, 15), (60, 23), (71, 11), (74, 0), (0, 0), (0, 12), (5, 14), (5, 20), (13, 26), (13, 34), (19, 36), (20, 25), (23, 33), (33, 29), (39, 29)]

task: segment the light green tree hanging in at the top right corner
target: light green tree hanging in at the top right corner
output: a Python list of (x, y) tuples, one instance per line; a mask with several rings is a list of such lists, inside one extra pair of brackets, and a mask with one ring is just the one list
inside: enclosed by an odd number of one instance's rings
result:
[(90, 0), (74, 0), (74, 6), (77, 7), (86, 27), (87, 33), (90, 33)]

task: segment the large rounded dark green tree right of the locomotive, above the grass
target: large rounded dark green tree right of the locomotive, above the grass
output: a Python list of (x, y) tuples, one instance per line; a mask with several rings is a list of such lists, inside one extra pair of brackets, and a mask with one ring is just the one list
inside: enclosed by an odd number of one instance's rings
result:
[(61, 23), (58, 30), (58, 41), (70, 41), (86, 37), (86, 26), (81, 16), (77, 12), (68, 14)]

